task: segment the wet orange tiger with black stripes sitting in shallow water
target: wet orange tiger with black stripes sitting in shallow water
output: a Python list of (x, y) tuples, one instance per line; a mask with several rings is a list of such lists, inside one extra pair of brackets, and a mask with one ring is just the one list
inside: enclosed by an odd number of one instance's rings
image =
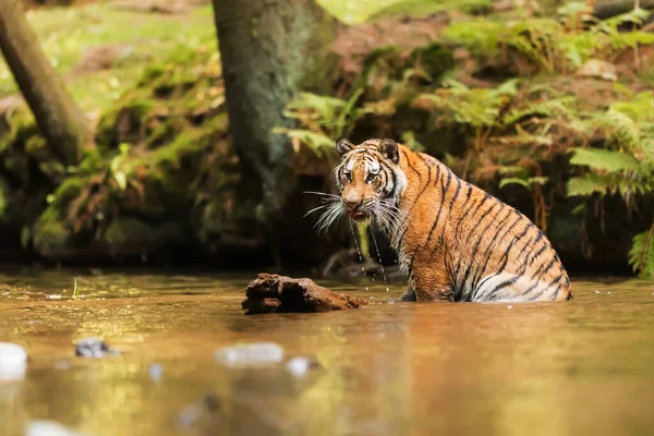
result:
[(409, 277), (398, 301), (571, 300), (570, 279), (546, 235), (518, 209), (393, 140), (336, 142), (337, 194), (318, 227), (340, 217), (375, 222)]

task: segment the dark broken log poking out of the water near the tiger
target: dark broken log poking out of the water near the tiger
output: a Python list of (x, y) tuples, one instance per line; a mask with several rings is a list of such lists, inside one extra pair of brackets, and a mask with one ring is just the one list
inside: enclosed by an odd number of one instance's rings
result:
[(289, 312), (329, 312), (359, 308), (368, 302), (344, 293), (331, 292), (311, 279), (293, 279), (276, 274), (259, 274), (247, 284), (241, 303), (245, 315)]

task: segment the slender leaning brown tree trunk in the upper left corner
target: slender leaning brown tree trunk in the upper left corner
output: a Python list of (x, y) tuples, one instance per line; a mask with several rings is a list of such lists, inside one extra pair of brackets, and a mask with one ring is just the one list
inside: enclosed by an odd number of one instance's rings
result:
[(63, 162), (77, 164), (92, 138), (88, 121), (48, 62), (21, 0), (0, 0), (0, 50), (44, 136)]

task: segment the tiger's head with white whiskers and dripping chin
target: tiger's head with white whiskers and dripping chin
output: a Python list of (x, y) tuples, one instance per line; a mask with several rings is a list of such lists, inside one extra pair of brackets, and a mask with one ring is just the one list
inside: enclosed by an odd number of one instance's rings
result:
[(368, 140), (354, 145), (339, 140), (336, 150), (341, 162), (335, 169), (338, 195), (318, 220), (327, 228), (347, 215), (355, 222), (374, 220), (392, 230), (399, 217), (398, 202), (407, 178), (400, 169), (400, 150), (392, 140)]

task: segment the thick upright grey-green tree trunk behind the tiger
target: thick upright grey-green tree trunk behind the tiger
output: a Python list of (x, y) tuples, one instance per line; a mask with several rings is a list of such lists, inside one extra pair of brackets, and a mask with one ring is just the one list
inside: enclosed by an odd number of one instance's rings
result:
[(214, 0), (227, 108), (244, 180), (261, 186), (259, 219), (272, 225), (296, 186), (283, 111), (298, 89), (330, 84), (338, 22), (314, 0)]

